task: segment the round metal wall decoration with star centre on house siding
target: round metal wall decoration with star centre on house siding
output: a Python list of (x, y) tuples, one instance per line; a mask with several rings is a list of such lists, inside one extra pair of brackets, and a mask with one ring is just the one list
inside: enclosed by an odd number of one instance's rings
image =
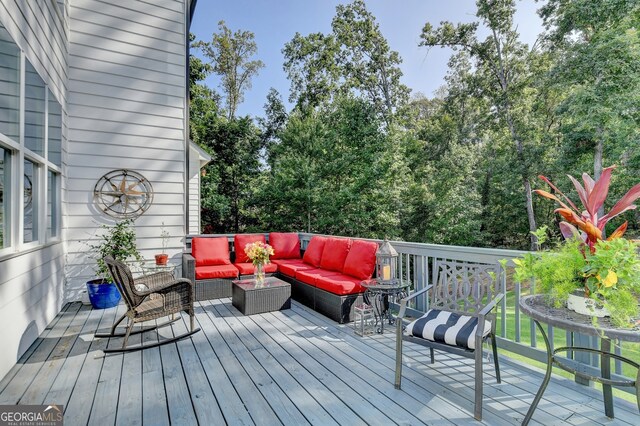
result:
[(98, 179), (93, 198), (98, 208), (109, 216), (132, 219), (142, 215), (151, 206), (153, 187), (138, 172), (112, 170)]

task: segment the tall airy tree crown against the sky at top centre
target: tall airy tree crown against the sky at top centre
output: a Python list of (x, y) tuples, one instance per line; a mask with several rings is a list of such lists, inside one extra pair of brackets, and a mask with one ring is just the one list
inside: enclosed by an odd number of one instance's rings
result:
[(366, 99), (389, 125), (408, 100), (402, 60), (392, 51), (363, 0), (336, 7), (332, 33), (296, 34), (285, 45), (290, 101), (316, 108), (350, 93)]

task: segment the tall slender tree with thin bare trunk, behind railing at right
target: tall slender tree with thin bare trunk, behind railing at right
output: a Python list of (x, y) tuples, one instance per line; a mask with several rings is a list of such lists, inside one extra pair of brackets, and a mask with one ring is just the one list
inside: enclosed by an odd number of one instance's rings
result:
[[(478, 86), (479, 95), (489, 100), (491, 108), (487, 111), (508, 131), (516, 152), (517, 167), (522, 190), (525, 195), (525, 208), (529, 230), (535, 231), (536, 219), (531, 195), (531, 169), (528, 145), (535, 133), (535, 125), (530, 121), (532, 61), (526, 45), (518, 41), (513, 16), (513, 0), (478, 0), (477, 16), (489, 29), (489, 36), (480, 40), (477, 35), (479, 22), (454, 25), (441, 23), (434, 28), (425, 24), (421, 34), (421, 45), (440, 46), (462, 50), (475, 61), (478, 73), (484, 82)], [(531, 248), (537, 248), (536, 237), (531, 234)]]

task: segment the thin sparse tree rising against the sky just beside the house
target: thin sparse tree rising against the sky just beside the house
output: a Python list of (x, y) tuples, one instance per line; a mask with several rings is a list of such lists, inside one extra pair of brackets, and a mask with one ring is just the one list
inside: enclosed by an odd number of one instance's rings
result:
[(218, 22), (218, 31), (210, 42), (199, 42), (197, 46), (211, 60), (213, 72), (221, 78), (227, 118), (231, 120), (244, 100), (244, 93), (251, 88), (251, 79), (264, 67), (264, 63), (251, 60), (258, 51), (251, 31), (232, 32), (224, 21)]

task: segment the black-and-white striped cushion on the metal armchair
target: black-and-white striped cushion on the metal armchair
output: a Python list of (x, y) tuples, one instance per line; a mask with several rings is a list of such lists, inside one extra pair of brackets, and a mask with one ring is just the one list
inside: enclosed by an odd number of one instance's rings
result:
[[(407, 326), (407, 333), (433, 342), (475, 349), (477, 329), (478, 318), (430, 309)], [(491, 322), (485, 320), (482, 337), (490, 332)]]

